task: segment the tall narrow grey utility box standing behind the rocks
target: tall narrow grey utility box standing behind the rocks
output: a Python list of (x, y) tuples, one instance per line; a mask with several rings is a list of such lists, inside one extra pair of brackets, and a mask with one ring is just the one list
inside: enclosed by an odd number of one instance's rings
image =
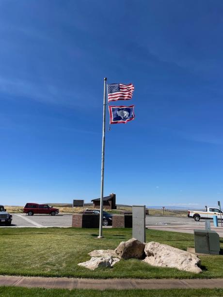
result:
[(132, 205), (132, 237), (145, 242), (145, 205)]

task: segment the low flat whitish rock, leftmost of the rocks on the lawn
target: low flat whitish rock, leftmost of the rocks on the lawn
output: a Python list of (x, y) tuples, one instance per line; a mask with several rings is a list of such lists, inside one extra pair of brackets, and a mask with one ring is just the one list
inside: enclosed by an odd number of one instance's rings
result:
[(120, 261), (120, 259), (110, 256), (92, 257), (91, 260), (79, 263), (78, 265), (95, 270), (97, 267), (112, 267), (118, 261)]

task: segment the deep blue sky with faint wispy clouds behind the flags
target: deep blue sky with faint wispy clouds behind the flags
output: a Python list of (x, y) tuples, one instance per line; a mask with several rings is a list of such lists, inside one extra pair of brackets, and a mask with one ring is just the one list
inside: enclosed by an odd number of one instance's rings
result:
[(223, 203), (222, 0), (0, 0), (0, 203)]

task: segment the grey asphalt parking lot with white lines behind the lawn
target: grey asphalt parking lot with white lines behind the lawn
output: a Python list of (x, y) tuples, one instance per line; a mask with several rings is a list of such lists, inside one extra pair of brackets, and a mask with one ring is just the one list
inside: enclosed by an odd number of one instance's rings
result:
[[(13, 214), (12, 227), (71, 227), (72, 215), (59, 214), (56, 216), (34, 215), (27, 216), (25, 214)], [(146, 216), (146, 227), (154, 230), (165, 230), (183, 233), (193, 233), (194, 229), (204, 229), (205, 219), (199, 222), (187, 217), (166, 217), (166, 216)], [(218, 232), (223, 237), (223, 228), (219, 222), (218, 228), (214, 228), (211, 221), (211, 229)], [(1, 225), (4, 227), (4, 225)], [(111, 227), (110, 227), (111, 228)]]

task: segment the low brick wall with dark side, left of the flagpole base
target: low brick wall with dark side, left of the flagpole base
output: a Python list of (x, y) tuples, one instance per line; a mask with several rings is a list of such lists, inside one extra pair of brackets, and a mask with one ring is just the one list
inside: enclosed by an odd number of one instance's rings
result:
[(75, 228), (99, 228), (99, 214), (74, 214), (72, 227)]

